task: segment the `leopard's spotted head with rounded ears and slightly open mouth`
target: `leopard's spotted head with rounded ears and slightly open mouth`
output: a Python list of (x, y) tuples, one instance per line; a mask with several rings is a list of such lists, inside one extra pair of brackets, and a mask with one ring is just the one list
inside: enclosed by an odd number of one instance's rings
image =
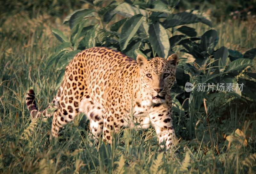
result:
[(152, 97), (155, 104), (165, 102), (166, 94), (170, 94), (175, 81), (175, 71), (179, 56), (170, 55), (167, 59), (154, 57), (147, 60), (142, 55), (137, 56), (140, 68), (140, 83), (143, 94)]

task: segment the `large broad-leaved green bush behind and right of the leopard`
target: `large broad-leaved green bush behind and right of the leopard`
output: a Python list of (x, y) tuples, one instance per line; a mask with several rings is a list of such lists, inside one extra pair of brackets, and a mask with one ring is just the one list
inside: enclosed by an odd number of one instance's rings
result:
[[(52, 29), (61, 44), (48, 59), (46, 69), (55, 65), (60, 70), (58, 83), (68, 62), (86, 48), (111, 47), (132, 58), (137, 54), (167, 58), (183, 47), (180, 52), (188, 56), (180, 59), (177, 83), (172, 89), (178, 134), (194, 138), (195, 127), (201, 121), (208, 124), (212, 140), (209, 121), (223, 120), (233, 106), (238, 110), (249, 107), (248, 113), (255, 110), (256, 74), (252, 69), (256, 48), (244, 54), (226, 47), (214, 49), (218, 43), (215, 30), (197, 36), (194, 28), (186, 26), (193, 23), (211, 26), (211, 21), (195, 11), (173, 13), (179, 1), (86, 2), (92, 8), (76, 10), (63, 22), (70, 27), (70, 37)], [(195, 85), (194, 91), (185, 91), (187, 82)], [(213, 83), (212, 90), (207, 85), (204, 91), (198, 91), (204, 83)], [(228, 91), (219, 91), (218, 83), (233, 86)], [(235, 89), (239, 84), (244, 84), (243, 89)], [(182, 127), (186, 127), (185, 132)]]

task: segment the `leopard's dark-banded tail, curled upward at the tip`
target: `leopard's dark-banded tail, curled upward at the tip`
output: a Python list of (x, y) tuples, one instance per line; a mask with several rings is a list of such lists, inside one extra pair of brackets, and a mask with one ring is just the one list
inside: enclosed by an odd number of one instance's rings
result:
[(57, 97), (55, 97), (52, 100), (52, 103), (44, 111), (38, 111), (36, 106), (35, 92), (33, 89), (30, 89), (26, 95), (26, 105), (32, 118), (38, 118), (42, 115), (44, 117), (51, 117), (53, 112), (58, 109), (59, 101), (57, 101)]

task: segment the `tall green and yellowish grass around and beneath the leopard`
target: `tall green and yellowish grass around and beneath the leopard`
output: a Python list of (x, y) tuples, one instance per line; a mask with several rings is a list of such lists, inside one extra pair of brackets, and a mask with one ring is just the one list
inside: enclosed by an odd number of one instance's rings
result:
[[(191, 111), (193, 118), (174, 115), (180, 142), (171, 152), (159, 148), (152, 128), (127, 128), (115, 135), (112, 146), (100, 143), (95, 147), (89, 139), (88, 123), (82, 114), (65, 127), (58, 140), (49, 141), (51, 119), (31, 123), (25, 94), (33, 87), (40, 108), (45, 108), (52, 100), (59, 72), (54, 67), (47, 71), (44, 68), (59, 43), (50, 29), (60, 28), (64, 32), (67, 29), (48, 16), (28, 19), (18, 15), (8, 20), (0, 28), (0, 173), (256, 171), (255, 113), (236, 107), (220, 106), (229, 109), (225, 117), (214, 112), (209, 113), (208, 119), (201, 110)], [(236, 28), (226, 29), (237, 32)], [(230, 33), (221, 31), (226, 35)], [(233, 39), (228, 42), (239, 43), (236, 37)], [(220, 40), (221, 45), (227, 43)], [(246, 49), (250, 48), (251, 43), (247, 43)], [(237, 128), (243, 131), (245, 138), (243, 134), (235, 134)], [(230, 143), (226, 140), (228, 135), (231, 135)]]

